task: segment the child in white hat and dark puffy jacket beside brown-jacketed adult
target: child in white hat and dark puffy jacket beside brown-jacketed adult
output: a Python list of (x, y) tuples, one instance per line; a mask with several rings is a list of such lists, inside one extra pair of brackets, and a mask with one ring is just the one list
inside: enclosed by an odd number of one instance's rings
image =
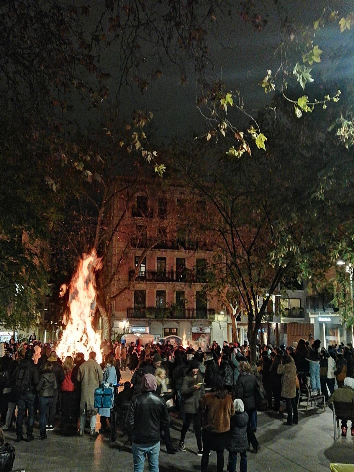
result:
[(228, 444), (228, 472), (236, 471), (237, 453), (240, 453), (240, 472), (247, 472), (247, 423), (248, 414), (240, 398), (234, 401), (235, 414), (230, 421), (230, 441)]

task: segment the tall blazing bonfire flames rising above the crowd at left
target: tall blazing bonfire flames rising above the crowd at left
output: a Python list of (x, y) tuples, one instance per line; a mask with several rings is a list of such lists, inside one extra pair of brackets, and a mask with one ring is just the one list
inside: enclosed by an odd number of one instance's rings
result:
[[(102, 362), (101, 337), (92, 327), (92, 315), (96, 306), (96, 284), (94, 271), (102, 268), (102, 260), (95, 249), (91, 254), (83, 254), (69, 284), (68, 307), (70, 317), (57, 346), (57, 354), (64, 360), (67, 355), (84, 353), (85, 360), (91, 351), (96, 353), (96, 361)], [(63, 296), (67, 287), (60, 287)]]

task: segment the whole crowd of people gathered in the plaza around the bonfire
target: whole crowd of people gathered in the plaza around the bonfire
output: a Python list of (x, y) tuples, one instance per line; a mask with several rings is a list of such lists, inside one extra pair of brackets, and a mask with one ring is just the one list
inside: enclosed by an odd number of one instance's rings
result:
[[(11, 346), (12, 345), (12, 346)], [(10, 347), (11, 346), (11, 347)], [(320, 340), (300, 339), (297, 346), (257, 346), (257, 361), (251, 362), (247, 343), (243, 346), (215, 341), (206, 352), (193, 345), (186, 349), (148, 343), (129, 346), (102, 342), (104, 362), (77, 353), (62, 362), (51, 343), (0, 344), (0, 421), (3, 430), (15, 427), (17, 441), (34, 439), (34, 417), (38, 412), (40, 439), (56, 427), (76, 427), (84, 435), (86, 420), (96, 436), (96, 415), (100, 433), (114, 441), (117, 429), (132, 442), (135, 472), (143, 471), (145, 455), (151, 471), (158, 470), (160, 440), (168, 454), (187, 450), (186, 433), (191, 423), (196, 453), (205, 472), (211, 451), (216, 451), (217, 471), (224, 467), (228, 450), (228, 471), (235, 472), (240, 454), (240, 472), (247, 470), (247, 451), (257, 453), (257, 411), (272, 410), (279, 418), (287, 413), (287, 426), (299, 421), (297, 403), (302, 384), (311, 395), (323, 397), (329, 406), (337, 401), (354, 401), (354, 350), (351, 344), (320, 347)], [(128, 361), (128, 364), (127, 364)], [(131, 380), (118, 393), (120, 371), (131, 371)], [(95, 391), (110, 389), (110, 405), (95, 406)], [(330, 396), (330, 398), (329, 398)], [(283, 402), (283, 403), (282, 403)], [(17, 417), (15, 410), (17, 406)], [(172, 410), (171, 410), (172, 409)], [(178, 448), (172, 444), (169, 414), (181, 419)], [(346, 436), (346, 421), (342, 435)], [(351, 428), (354, 436), (354, 425)]]

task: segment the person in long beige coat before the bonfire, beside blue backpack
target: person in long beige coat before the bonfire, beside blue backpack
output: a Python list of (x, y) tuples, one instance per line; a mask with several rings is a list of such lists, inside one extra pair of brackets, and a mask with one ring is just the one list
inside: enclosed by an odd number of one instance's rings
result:
[(90, 418), (91, 436), (96, 432), (97, 409), (93, 406), (95, 399), (95, 389), (100, 386), (103, 380), (102, 369), (96, 362), (96, 353), (91, 352), (89, 359), (83, 362), (77, 372), (77, 381), (81, 382), (80, 401), (80, 436), (84, 435), (86, 416)]

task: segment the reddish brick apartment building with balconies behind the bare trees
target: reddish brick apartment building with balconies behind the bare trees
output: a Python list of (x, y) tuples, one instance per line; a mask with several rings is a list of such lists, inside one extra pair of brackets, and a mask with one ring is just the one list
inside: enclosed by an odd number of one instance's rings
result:
[(204, 204), (166, 182), (118, 196), (113, 218), (124, 217), (112, 245), (112, 270), (119, 264), (112, 294), (122, 295), (112, 302), (113, 330), (188, 341), (231, 338), (226, 309), (205, 295), (212, 240), (190, 227)]

